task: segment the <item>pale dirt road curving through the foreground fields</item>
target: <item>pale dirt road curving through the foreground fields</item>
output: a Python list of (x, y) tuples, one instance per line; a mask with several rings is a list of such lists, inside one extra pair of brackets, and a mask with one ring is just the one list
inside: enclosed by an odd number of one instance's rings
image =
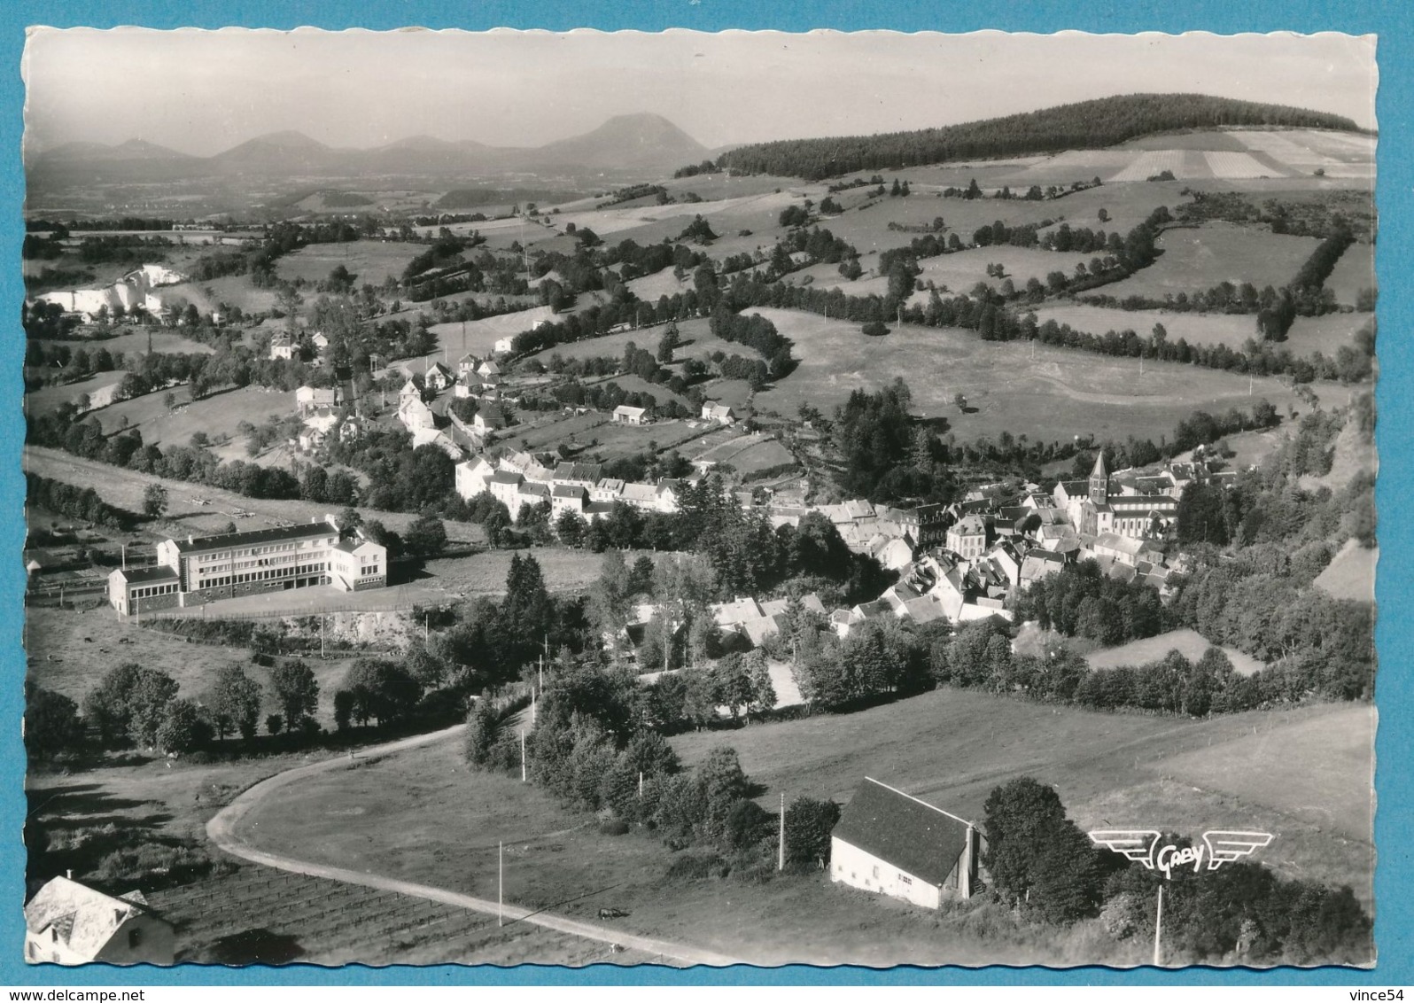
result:
[[(441, 731), (433, 731), (431, 734), (420, 734), (411, 738), (400, 738), (397, 741), (390, 741), (383, 746), (373, 746), (370, 748), (362, 750), (362, 757), (369, 755), (386, 755), (389, 753), (400, 753), (409, 748), (417, 748), (420, 746), (428, 746), (434, 741), (441, 741), (460, 734), (465, 729), (465, 724), (457, 724)], [(222, 808), (208, 823), (206, 823), (206, 837), (211, 839), (216, 846), (219, 846), (226, 853), (240, 857), (242, 860), (249, 860), (252, 863), (262, 864), (264, 867), (274, 867), (277, 870), (287, 870), (296, 874), (308, 874), (311, 877), (327, 877), (334, 881), (345, 881), (348, 884), (361, 884), (369, 888), (380, 888), (383, 891), (397, 891), (404, 895), (416, 895), (417, 898), (428, 898), (436, 903), (444, 903), (447, 905), (457, 905), (460, 908), (474, 910), (477, 912), (486, 912), (489, 915), (501, 914), (506, 921), (530, 922), (537, 927), (546, 927), (547, 929), (556, 929), (563, 934), (573, 934), (574, 937), (583, 937), (591, 941), (601, 941), (604, 944), (618, 944), (625, 948), (633, 948), (636, 951), (643, 951), (650, 955), (662, 955), (663, 958), (672, 958), (673, 961), (683, 962), (686, 965), (740, 965), (742, 963), (737, 958), (728, 958), (725, 955), (715, 953), (713, 951), (700, 951), (697, 948), (690, 948), (682, 944), (673, 944), (670, 941), (659, 941), (650, 937), (639, 937), (636, 934), (629, 934), (619, 929), (609, 929), (608, 927), (597, 927), (590, 922), (580, 922), (577, 920), (568, 920), (561, 915), (554, 915), (551, 912), (542, 912), (537, 910), (530, 910), (523, 905), (513, 905), (506, 903), (499, 905), (489, 898), (477, 898), (475, 895), (464, 895), (460, 891), (451, 891), (448, 888), (437, 888), (428, 884), (416, 884), (413, 881), (402, 881), (392, 877), (383, 877), (380, 874), (366, 874), (363, 871), (349, 870), (346, 867), (334, 867), (329, 864), (312, 863), (308, 860), (296, 860), (294, 857), (281, 856), (277, 853), (266, 853), (236, 833), (240, 821), (256, 806), (260, 801), (269, 795), (271, 791), (277, 791), (283, 787), (294, 784), (297, 781), (315, 777), (318, 774), (332, 772), (335, 770), (348, 770), (351, 760), (345, 757), (335, 757), (329, 760), (321, 760), (318, 763), (311, 763), (304, 767), (296, 767), (293, 770), (286, 770), (284, 772), (276, 774), (267, 779), (255, 784), (253, 787), (243, 791), (235, 801)]]

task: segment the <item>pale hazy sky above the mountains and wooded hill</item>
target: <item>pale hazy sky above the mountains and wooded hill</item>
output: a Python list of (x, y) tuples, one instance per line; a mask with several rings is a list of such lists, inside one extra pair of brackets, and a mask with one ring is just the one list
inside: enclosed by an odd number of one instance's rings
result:
[(277, 130), (540, 146), (653, 112), (707, 147), (925, 129), (1131, 92), (1374, 127), (1373, 35), (33, 28), (25, 143), (211, 156)]

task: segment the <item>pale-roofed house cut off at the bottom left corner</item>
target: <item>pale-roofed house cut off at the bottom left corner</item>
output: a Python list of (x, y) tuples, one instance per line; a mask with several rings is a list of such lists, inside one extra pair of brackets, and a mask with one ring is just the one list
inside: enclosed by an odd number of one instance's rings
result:
[(140, 891), (115, 897), (55, 877), (24, 907), (24, 959), (31, 965), (171, 965), (175, 953), (173, 925)]

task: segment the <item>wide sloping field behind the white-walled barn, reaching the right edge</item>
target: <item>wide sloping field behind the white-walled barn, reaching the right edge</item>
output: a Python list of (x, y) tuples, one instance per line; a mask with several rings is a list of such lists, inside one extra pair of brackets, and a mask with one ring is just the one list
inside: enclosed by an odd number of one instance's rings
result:
[(788, 801), (844, 802), (868, 775), (980, 821), (994, 787), (1029, 775), (1053, 785), (1082, 828), (1280, 833), (1263, 863), (1350, 884), (1369, 903), (1373, 734), (1367, 705), (1181, 720), (937, 690), (841, 717), (686, 734), (673, 746), (689, 764), (734, 746), (747, 775), (766, 787), (766, 806), (781, 789)]

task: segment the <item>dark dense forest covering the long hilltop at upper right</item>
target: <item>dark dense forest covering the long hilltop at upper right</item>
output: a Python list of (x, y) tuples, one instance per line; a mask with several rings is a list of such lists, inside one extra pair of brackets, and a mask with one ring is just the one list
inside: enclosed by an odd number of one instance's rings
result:
[(756, 143), (721, 154), (717, 166), (819, 181), (851, 171), (898, 170), (943, 160), (1093, 150), (1174, 129), (1222, 126), (1357, 130), (1343, 116), (1287, 105), (1198, 93), (1133, 93), (940, 129)]

